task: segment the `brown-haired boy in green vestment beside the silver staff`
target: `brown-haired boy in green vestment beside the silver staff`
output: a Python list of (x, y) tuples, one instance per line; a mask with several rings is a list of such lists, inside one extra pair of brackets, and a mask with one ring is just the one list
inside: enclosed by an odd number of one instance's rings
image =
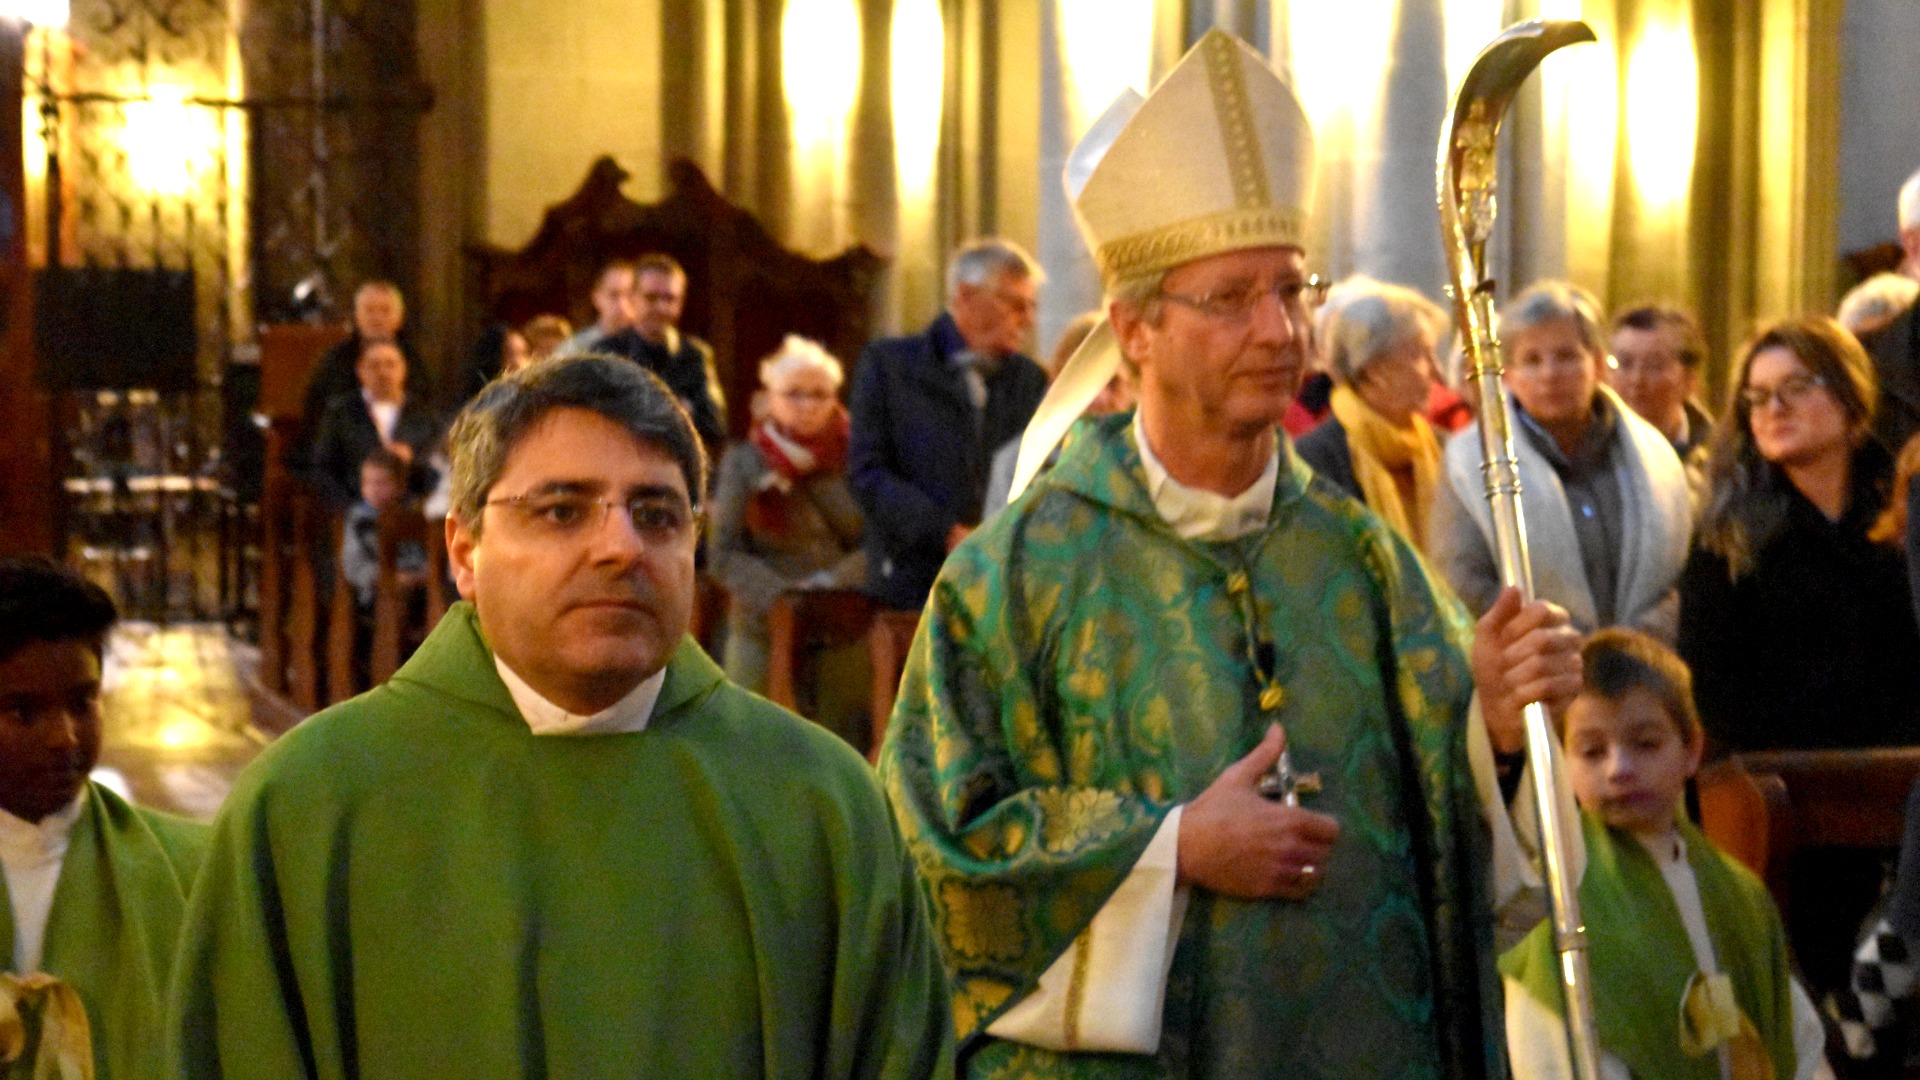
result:
[[(1766, 888), (1684, 817), (1705, 738), (1686, 663), (1609, 628), (1582, 650), (1567, 709), (1567, 774), (1586, 840), (1580, 913), (1601, 1076), (1811, 1080), (1824, 1032), (1788, 965)], [(1553, 928), (1500, 961), (1515, 1080), (1572, 1076)]]

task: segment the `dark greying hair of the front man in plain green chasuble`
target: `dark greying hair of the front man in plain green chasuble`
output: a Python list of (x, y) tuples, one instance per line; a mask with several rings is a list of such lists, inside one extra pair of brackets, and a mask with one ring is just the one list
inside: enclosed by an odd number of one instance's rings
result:
[(453, 419), (451, 513), (474, 536), (488, 492), (526, 432), (553, 409), (588, 409), (626, 429), (680, 465), (687, 500), (699, 507), (707, 490), (707, 448), (693, 434), (687, 409), (651, 371), (607, 354), (582, 354), (522, 367), (495, 379)]

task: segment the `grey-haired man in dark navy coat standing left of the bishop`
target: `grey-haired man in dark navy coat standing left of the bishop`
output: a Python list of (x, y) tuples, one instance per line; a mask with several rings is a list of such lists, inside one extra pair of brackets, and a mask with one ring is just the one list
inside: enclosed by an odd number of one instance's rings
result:
[(975, 240), (947, 265), (947, 311), (870, 342), (854, 371), (847, 477), (866, 515), (868, 592), (918, 611), (947, 553), (979, 525), (993, 454), (1046, 394), (1021, 350), (1041, 267), (1012, 240)]

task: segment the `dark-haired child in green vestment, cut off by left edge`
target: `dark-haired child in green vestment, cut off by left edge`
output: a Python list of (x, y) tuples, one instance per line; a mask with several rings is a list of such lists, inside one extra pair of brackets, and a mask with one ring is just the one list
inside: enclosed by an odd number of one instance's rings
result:
[(0, 1034), (0, 1076), (167, 1074), (165, 990), (207, 828), (88, 780), (115, 617), (79, 575), (0, 559), (0, 1032), (23, 1036), (10, 1061)]

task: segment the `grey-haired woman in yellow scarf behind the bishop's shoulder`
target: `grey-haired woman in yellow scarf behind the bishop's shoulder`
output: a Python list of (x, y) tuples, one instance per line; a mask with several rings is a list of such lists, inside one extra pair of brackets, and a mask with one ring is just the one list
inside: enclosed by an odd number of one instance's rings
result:
[(1440, 306), (1411, 288), (1367, 277), (1336, 284), (1317, 334), (1332, 415), (1296, 444), (1302, 461), (1421, 552), (1440, 484), (1440, 440), (1425, 411), (1446, 325)]

